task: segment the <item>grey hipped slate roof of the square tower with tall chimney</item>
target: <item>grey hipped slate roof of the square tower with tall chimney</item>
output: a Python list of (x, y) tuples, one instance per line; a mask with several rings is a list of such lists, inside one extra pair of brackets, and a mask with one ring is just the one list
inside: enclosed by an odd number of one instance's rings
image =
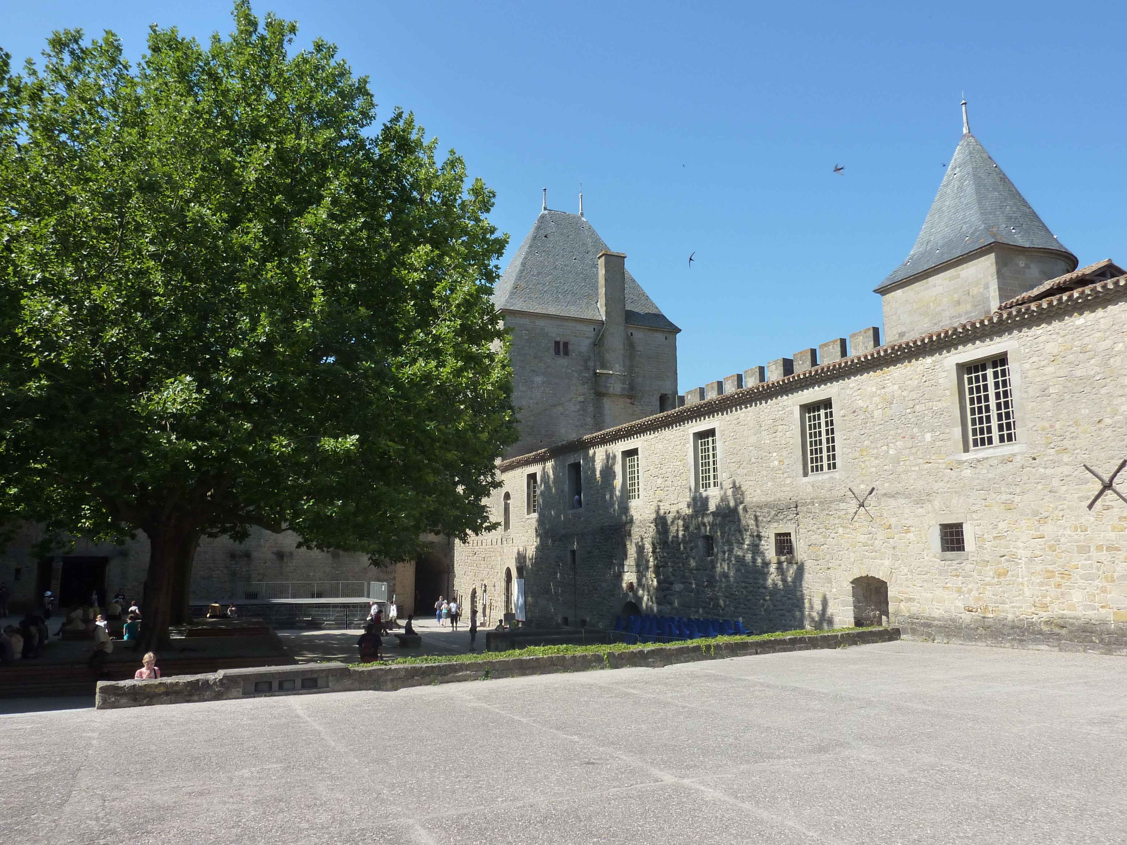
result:
[[(498, 311), (531, 311), (602, 320), (598, 259), (607, 247), (585, 217), (542, 211), (505, 269), (494, 304)], [(627, 270), (627, 323), (681, 331)]]

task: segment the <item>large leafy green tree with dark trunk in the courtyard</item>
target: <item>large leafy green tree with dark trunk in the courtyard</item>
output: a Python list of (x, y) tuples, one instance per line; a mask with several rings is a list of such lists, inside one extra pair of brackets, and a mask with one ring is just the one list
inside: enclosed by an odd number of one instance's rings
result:
[(487, 524), (515, 439), (492, 192), (334, 46), (234, 21), (0, 64), (0, 517), (143, 531), (147, 644), (201, 537), (401, 558)]

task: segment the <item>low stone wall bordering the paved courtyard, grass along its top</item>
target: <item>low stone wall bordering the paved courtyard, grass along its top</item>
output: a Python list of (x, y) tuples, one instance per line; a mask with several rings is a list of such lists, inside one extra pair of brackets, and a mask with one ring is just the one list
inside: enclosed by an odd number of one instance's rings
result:
[[(659, 668), (699, 660), (771, 655), (781, 651), (835, 649), (890, 642), (900, 638), (898, 628), (871, 628), (841, 633), (813, 633), (767, 640), (701, 640), (685, 646), (655, 646), (627, 651), (605, 651), (543, 657), (511, 657), (499, 660), (470, 660), (443, 664), (392, 664), (348, 666), (346, 664), (299, 664), (255, 669), (223, 669), (211, 675), (184, 675), (161, 681), (103, 681), (98, 684), (95, 706), (99, 710), (136, 708), (148, 704), (179, 704), (192, 701), (301, 695), (319, 692), (371, 690), (393, 692), (409, 686), (453, 684), (487, 678), (515, 678), (551, 675), (561, 671)], [(317, 678), (317, 685), (303, 687), (302, 678)], [(279, 683), (287, 686), (279, 688)], [(293, 682), (290, 684), (290, 682)], [(267, 688), (265, 684), (269, 683)], [(308, 681), (307, 681), (308, 683)], [(257, 687), (256, 687), (257, 684)]]

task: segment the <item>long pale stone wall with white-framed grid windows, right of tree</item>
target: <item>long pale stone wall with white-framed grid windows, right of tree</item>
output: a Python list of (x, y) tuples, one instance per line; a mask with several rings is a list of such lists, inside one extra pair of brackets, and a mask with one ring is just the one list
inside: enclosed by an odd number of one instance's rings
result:
[[(1127, 457), (1127, 287), (1108, 284), (508, 461), (491, 504), (500, 519), (509, 493), (509, 530), (456, 548), (459, 590), (485, 587), (496, 621), (505, 570), (520, 567), (535, 624), (604, 625), (633, 601), (766, 631), (853, 624), (853, 581), (869, 576), (908, 634), (1127, 652), (1127, 505), (1104, 496), (1089, 512), (1099, 482), (1083, 466)], [(1002, 354), (1018, 441), (968, 452), (960, 366)], [(825, 400), (837, 469), (809, 475), (800, 412)], [(712, 429), (721, 483), (702, 492), (693, 438)], [(627, 501), (633, 448), (641, 498)], [(541, 507), (529, 516), (531, 472)], [(939, 551), (943, 523), (964, 524), (967, 551)], [(777, 557), (780, 532), (793, 558)]]

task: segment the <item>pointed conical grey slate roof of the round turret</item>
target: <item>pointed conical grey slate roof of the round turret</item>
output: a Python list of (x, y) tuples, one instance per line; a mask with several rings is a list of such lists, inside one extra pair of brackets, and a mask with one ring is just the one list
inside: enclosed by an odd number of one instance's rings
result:
[(991, 243), (1049, 249), (1067, 256), (1073, 267), (1077, 264), (978, 139), (967, 132), (947, 166), (912, 252), (877, 293)]

